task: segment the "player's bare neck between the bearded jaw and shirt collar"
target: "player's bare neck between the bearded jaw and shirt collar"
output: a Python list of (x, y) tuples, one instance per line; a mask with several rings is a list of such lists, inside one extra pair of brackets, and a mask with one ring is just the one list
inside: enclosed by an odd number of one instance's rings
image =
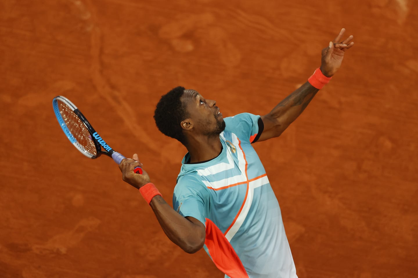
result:
[(216, 158), (222, 150), (219, 135), (188, 138), (186, 146), (190, 155), (190, 162), (196, 163)]

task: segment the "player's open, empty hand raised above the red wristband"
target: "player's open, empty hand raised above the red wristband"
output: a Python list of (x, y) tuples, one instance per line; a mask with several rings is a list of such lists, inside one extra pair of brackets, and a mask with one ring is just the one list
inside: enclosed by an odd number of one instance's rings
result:
[(344, 32), (345, 29), (342, 28), (334, 41), (329, 42), (329, 46), (322, 50), (320, 69), (327, 77), (331, 77), (337, 72), (337, 70), (341, 67), (344, 52), (349, 50), (354, 45), (354, 42), (352, 42), (353, 35), (350, 35), (347, 39), (341, 41)]

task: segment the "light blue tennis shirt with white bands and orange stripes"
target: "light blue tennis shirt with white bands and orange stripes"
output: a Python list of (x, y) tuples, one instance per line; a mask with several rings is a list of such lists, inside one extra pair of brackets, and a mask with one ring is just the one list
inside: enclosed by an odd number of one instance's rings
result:
[(224, 121), (216, 158), (188, 164), (184, 156), (173, 208), (204, 223), (204, 249), (225, 277), (297, 278), (278, 201), (251, 145), (263, 122), (249, 113)]

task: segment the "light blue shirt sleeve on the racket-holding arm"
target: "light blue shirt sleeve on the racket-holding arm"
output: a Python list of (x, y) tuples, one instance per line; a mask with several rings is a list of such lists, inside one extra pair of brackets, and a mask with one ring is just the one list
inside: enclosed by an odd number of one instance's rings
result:
[(187, 176), (178, 180), (173, 193), (174, 210), (184, 217), (194, 217), (206, 226), (208, 206), (209, 192), (206, 186)]

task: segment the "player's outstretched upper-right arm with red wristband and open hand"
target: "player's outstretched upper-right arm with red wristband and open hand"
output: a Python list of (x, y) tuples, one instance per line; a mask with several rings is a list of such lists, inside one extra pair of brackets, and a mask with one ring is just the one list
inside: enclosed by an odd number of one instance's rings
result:
[(340, 68), (344, 52), (354, 45), (352, 35), (346, 40), (340, 41), (344, 32), (343, 28), (334, 41), (329, 42), (329, 46), (322, 50), (321, 67), (309, 78), (308, 82), (280, 101), (270, 113), (261, 116), (264, 130), (258, 142), (280, 136), (305, 110), (321, 88), (321, 84), (328, 82)]

